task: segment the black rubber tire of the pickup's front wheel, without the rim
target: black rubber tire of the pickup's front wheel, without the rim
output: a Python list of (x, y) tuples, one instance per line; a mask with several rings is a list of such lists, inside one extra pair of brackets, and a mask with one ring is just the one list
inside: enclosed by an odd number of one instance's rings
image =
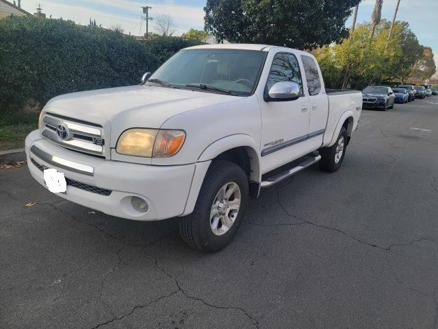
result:
[[(211, 205), (222, 186), (235, 182), (240, 188), (240, 208), (231, 228), (216, 235), (210, 226)], [(179, 232), (183, 241), (201, 252), (217, 252), (226, 247), (240, 227), (248, 204), (248, 179), (245, 172), (233, 162), (215, 160), (205, 175), (193, 212), (179, 220)]]

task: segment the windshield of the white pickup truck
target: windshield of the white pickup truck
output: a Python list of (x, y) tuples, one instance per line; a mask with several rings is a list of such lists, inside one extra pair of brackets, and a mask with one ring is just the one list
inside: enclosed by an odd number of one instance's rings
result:
[(263, 51), (239, 49), (181, 50), (160, 66), (149, 80), (150, 83), (167, 82), (174, 88), (209, 93), (227, 90), (233, 95), (248, 96), (257, 85), (265, 55)]

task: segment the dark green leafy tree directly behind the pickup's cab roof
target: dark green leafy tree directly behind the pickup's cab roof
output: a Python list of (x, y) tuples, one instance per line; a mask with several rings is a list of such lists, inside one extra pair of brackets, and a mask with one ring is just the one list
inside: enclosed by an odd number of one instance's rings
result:
[(348, 36), (360, 0), (207, 0), (205, 29), (218, 41), (313, 49)]

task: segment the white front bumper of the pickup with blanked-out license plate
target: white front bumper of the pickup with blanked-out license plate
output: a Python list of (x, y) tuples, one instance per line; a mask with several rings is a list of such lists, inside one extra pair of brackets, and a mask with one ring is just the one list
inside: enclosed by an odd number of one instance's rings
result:
[[(151, 166), (96, 158), (69, 151), (41, 138), (38, 130), (26, 138), (29, 171), (46, 187), (44, 168), (64, 173), (66, 193), (60, 197), (107, 215), (154, 221), (192, 212), (210, 161), (179, 166)], [(50, 155), (47, 157), (47, 155)], [(148, 205), (139, 212), (131, 205), (133, 196)]]

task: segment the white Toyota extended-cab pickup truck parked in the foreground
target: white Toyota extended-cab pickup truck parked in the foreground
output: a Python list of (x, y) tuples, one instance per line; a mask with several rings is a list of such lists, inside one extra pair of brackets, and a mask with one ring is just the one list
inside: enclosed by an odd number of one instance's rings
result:
[(186, 243), (215, 252), (261, 188), (315, 162), (339, 169), (361, 106), (359, 91), (325, 89), (307, 52), (190, 47), (138, 86), (51, 99), (27, 161), (46, 187), (46, 169), (64, 173), (59, 195), (71, 202), (139, 221), (179, 217)]

